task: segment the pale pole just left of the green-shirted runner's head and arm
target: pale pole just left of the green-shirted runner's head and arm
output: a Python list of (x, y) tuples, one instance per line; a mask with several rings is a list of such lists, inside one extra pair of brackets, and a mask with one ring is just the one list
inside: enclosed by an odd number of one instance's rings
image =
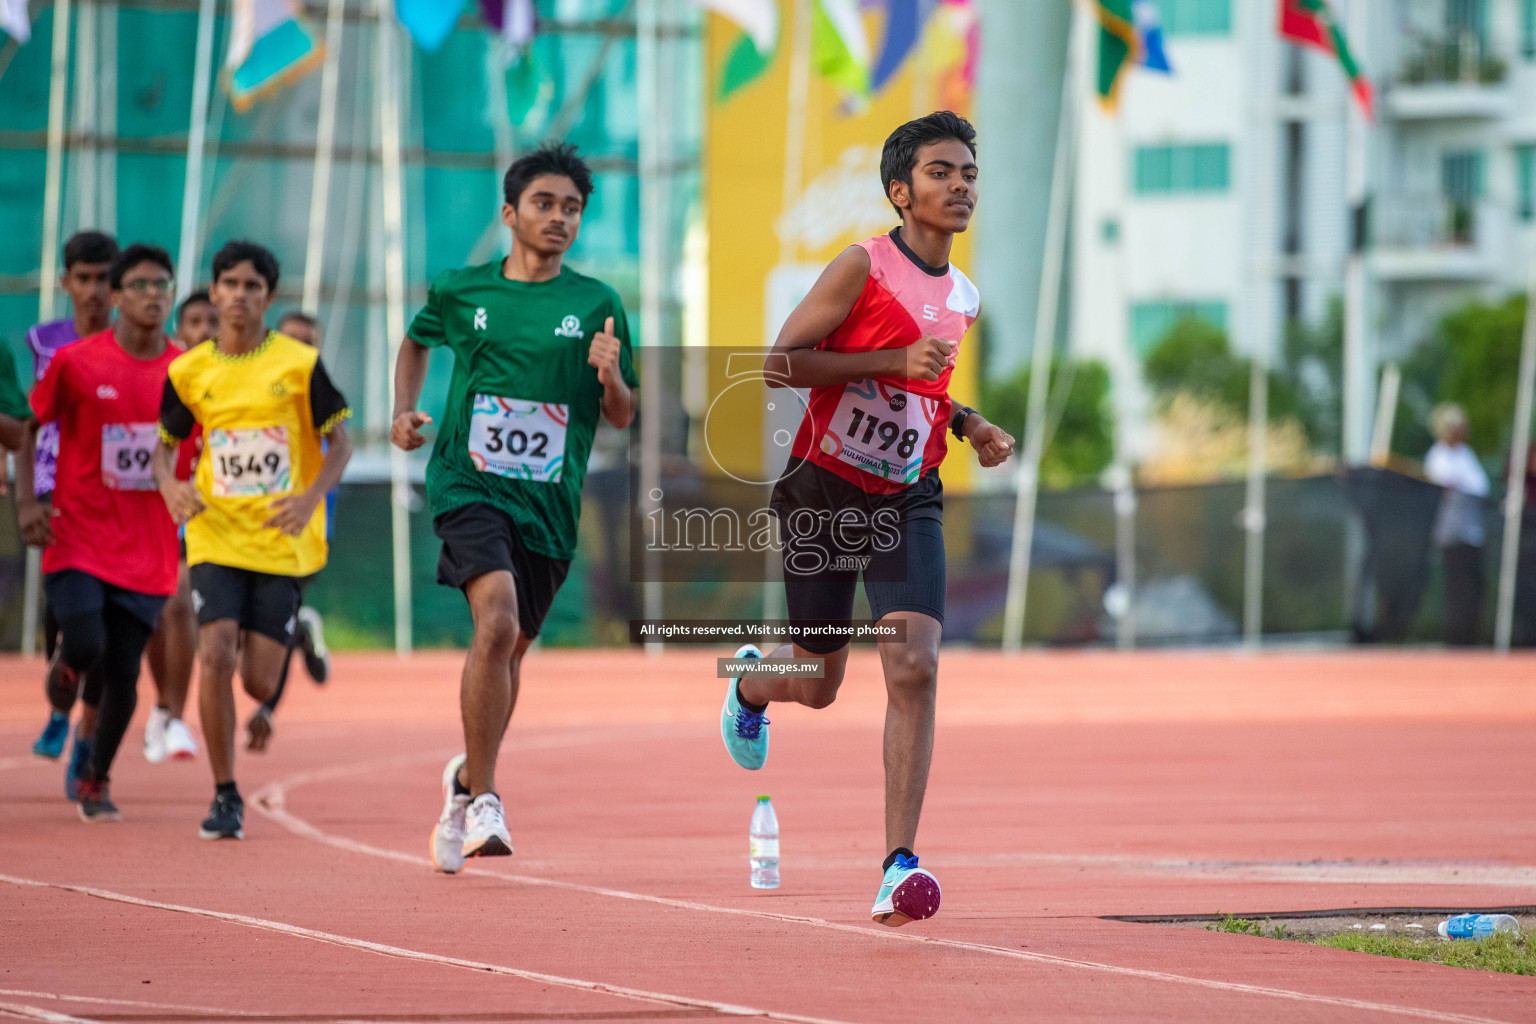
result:
[[(395, 3), (378, 0), (378, 101), (379, 149), (384, 197), (384, 324), (389, 365), (399, 356), (406, 338), (406, 198), (399, 166), (399, 78), (395, 43)], [(395, 375), (389, 381), (389, 405), (395, 407)], [(395, 567), (395, 654), (410, 657), (410, 477), (406, 453), (390, 445), (390, 533)]]

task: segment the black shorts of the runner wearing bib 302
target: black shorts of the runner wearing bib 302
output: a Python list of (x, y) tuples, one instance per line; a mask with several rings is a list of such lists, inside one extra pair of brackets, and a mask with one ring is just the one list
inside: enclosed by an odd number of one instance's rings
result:
[(432, 520), (432, 530), (442, 539), (439, 583), (464, 590), (485, 573), (511, 573), (522, 636), (530, 640), (539, 636), (554, 594), (570, 573), (570, 559), (528, 551), (511, 516), (484, 502), (450, 508)]

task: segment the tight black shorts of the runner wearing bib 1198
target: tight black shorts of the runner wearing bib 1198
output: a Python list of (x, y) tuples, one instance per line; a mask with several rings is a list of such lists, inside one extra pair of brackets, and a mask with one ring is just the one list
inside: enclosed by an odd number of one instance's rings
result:
[[(848, 543), (819, 531), (796, 537), (785, 531), (783, 591), (790, 623), (797, 628), (846, 623), (854, 614), (854, 588), (863, 576), (869, 617), (917, 611), (945, 622), (945, 528), (937, 519), (908, 519), (879, 543)], [(859, 565), (863, 568), (859, 568)], [(813, 654), (848, 646), (842, 639), (797, 642)]]

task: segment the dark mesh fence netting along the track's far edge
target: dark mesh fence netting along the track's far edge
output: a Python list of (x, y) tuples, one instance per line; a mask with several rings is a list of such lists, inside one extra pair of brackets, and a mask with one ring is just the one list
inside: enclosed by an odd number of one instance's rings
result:
[[(664, 473), (664, 491), (697, 505), (750, 507), (750, 488)], [(419, 494), (419, 488), (416, 488)], [(645, 617), (642, 579), (659, 579), (665, 619), (782, 616), (776, 556), (754, 550), (694, 550), (647, 576), (631, 548), (645, 536), (627, 468), (587, 477), (579, 554), (544, 626), (548, 645), (621, 645)], [(1267, 481), (1263, 631), (1367, 643), (1438, 642), (1445, 617), (1444, 560), (1432, 542), (1439, 488), (1384, 470)], [(1241, 482), (1138, 488), (1135, 504), (1135, 617), (1138, 643), (1223, 643), (1240, 636), (1244, 597)], [(657, 510), (653, 510), (657, 511)], [(659, 514), (676, 510), (664, 505)], [(1484, 502), (1484, 586), (1479, 642), (1491, 642), (1502, 519)], [(438, 540), (425, 511), (412, 516), (412, 623), (419, 646), (470, 639), (458, 591), (436, 583)], [(1012, 545), (1012, 493), (948, 494), (945, 639), (995, 645), (1003, 631)], [(390, 487), (343, 485), (330, 563), (307, 603), (326, 616), (333, 646), (393, 643)], [(1521, 537), (1514, 643), (1536, 645), (1536, 513)], [(708, 545), (694, 545), (708, 548)], [(720, 545), (722, 548), (727, 545)], [(1117, 583), (1114, 496), (1100, 488), (1040, 496), (1025, 636), (1032, 643), (1115, 640), (1121, 622), (1106, 609)], [(674, 556), (668, 556), (674, 559)], [(11, 502), (0, 504), (0, 645), (22, 636), (25, 551)], [(680, 568), (679, 568), (680, 567)], [(765, 580), (770, 585), (765, 586)], [(776, 597), (777, 593), (777, 597)], [(1107, 602), (1114, 605), (1115, 602)], [(854, 617), (868, 617), (860, 594)]]

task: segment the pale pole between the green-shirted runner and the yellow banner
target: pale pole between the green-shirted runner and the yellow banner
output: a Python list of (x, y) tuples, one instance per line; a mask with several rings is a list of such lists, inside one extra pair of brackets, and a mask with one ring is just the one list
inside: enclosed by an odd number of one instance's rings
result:
[[(660, 0), (639, 0), (634, 6), (634, 74), (639, 86), (641, 112), (641, 393), (651, 407), (641, 415), (641, 511), (653, 513), (662, 497), (662, 232), (665, 210), (662, 209), (660, 180), (660, 61), (659, 11)], [(659, 553), (645, 551), (645, 583), (642, 606), (647, 619), (662, 616), (662, 585), (659, 576)], [(660, 654), (662, 645), (651, 642), (645, 652)]]

